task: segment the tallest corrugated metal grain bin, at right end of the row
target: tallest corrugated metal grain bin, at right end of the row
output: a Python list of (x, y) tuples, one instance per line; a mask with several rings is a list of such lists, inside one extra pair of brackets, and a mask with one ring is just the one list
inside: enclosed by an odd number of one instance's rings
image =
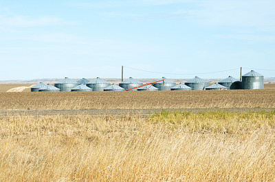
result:
[(241, 77), (243, 89), (263, 89), (263, 75), (251, 70)]

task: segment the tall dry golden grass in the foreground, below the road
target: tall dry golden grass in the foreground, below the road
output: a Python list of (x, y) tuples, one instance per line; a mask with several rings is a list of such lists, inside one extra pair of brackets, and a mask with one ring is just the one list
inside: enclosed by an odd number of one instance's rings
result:
[(0, 181), (273, 181), (274, 117), (2, 117)]

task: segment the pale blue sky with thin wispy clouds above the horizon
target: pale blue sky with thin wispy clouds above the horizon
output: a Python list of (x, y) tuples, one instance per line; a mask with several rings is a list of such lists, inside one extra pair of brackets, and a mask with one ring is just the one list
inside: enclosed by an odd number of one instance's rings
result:
[(0, 0), (0, 80), (275, 77), (274, 0)]

